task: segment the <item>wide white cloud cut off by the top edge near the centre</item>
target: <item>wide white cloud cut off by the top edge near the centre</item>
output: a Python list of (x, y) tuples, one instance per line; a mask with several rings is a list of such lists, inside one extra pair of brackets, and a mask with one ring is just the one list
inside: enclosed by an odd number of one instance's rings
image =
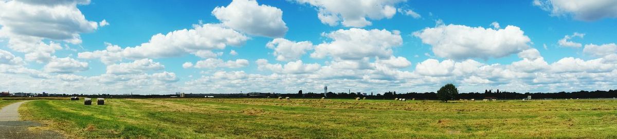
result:
[(317, 7), (317, 17), (321, 23), (336, 26), (341, 21), (343, 26), (362, 28), (370, 26), (371, 21), (392, 18), (397, 12), (395, 5), (405, 0), (386, 1), (329, 1), (329, 0), (296, 0), (300, 4), (310, 4)]

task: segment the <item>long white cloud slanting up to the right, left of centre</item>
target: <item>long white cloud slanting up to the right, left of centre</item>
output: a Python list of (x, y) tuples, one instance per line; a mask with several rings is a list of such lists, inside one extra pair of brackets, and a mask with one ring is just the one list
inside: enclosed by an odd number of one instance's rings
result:
[(101, 58), (106, 64), (128, 59), (169, 58), (191, 53), (201, 58), (214, 58), (223, 53), (214, 53), (212, 50), (222, 50), (228, 45), (244, 45), (249, 38), (220, 24), (194, 25), (193, 29), (181, 29), (156, 34), (149, 42), (141, 43), (136, 47), (124, 49), (117, 45), (106, 43), (106, 50), (79, 53), (79, 58)]

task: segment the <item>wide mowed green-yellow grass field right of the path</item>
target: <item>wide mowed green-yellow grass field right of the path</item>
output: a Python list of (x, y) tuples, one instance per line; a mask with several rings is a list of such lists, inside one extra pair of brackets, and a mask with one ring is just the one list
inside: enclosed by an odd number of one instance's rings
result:
[(35, 100), (69, 138), (617, 138), (617, 100)]

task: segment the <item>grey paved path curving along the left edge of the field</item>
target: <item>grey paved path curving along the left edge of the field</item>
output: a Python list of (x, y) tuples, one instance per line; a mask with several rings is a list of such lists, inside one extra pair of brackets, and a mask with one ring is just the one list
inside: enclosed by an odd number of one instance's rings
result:
[(20, 121), (19, 106), (25, 102), (28, 101), (12, 103), (0, 110), (0, 138), (63, 138), (57, 132), (28, 130), (28, 127), (41, 126), (41, 124), (33, 121)]

